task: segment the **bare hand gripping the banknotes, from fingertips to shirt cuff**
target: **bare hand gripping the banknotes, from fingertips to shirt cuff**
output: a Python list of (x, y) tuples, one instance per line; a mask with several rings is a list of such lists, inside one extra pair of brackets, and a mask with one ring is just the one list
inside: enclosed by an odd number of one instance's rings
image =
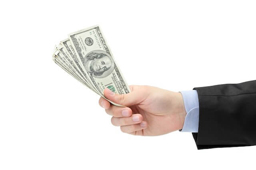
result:
[(104, 96), (127, 107), (118, 107), (100, 98), (99, 104), (112, 115), (111, 122), (132, 135), (155, 136), (182, 129), (186, 110), (182, 94), (152, 86), (130, 86), (128, 94), (115, 94), (108, 88)]

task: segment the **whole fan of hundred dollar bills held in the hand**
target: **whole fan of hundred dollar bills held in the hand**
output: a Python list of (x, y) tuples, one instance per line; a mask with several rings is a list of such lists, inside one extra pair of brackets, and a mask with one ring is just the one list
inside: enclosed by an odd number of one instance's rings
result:
[(68, 74), (103, 98), (105, 88), (118, 94), (130, 92), (98, 25), (70, 33), (56, 46), (52, 57)]

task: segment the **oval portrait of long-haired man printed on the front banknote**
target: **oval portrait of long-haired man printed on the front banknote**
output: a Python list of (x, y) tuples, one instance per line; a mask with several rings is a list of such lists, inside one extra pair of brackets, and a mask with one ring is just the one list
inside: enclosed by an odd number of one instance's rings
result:
[(95, 50), (84, 57), (84, 68), (93, 77), (104, 78), (114, 70), (114, 60), (105, 51)]

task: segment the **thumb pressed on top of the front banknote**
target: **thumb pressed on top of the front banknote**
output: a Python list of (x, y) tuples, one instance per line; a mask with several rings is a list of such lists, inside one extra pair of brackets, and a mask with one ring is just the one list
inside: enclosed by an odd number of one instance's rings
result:
[(123, 106), (132, 106), (135, 104), (139, 104), (142, 102), (142, 95), (140, 95), (138, 92), (130, 92), (127, 94), (116, 94), (109, 90), (108, 88), (104, 89), (104, 96), (111, 100), (112, 102), (115, 102), (117, 104), (123, 105)]

